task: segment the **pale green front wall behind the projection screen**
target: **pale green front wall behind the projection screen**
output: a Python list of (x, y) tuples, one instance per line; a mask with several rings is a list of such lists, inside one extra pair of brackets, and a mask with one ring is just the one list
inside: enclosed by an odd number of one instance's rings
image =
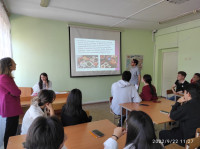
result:
[[(20, 87), (32, 87), (41, 72), (46, 72), (55, 91), (81, 89), (83, 102), (108, 100), (112, 83), (121, 76), (70, 78), (68, 23), (12, 14), (13, 58), (17, 69), (15, 81)], [(151, 31), (122, 31), (122, 68), (127, 54), (144, 55), (142, 74), (153, 73)]]

